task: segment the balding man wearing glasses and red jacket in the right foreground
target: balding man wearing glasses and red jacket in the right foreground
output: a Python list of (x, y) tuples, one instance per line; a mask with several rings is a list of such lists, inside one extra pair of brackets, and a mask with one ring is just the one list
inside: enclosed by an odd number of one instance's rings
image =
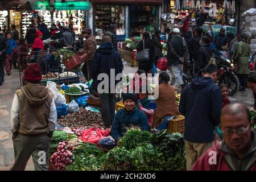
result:
[(224, 139), (209, 148), (194, 171), (256, 171), (256, 139), (249, 110), (243, 104), (230, 104), (221, 112)]

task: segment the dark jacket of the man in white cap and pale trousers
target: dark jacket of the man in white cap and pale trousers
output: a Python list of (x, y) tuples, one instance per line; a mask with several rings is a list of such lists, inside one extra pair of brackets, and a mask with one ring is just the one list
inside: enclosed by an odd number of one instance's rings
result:
[(180, 58), (188, 56), (188, 47), (185, 39), (180, 35), (175, 35), (170, 42), (168, 42), (168, 66), (175, 66), (181, 64)]

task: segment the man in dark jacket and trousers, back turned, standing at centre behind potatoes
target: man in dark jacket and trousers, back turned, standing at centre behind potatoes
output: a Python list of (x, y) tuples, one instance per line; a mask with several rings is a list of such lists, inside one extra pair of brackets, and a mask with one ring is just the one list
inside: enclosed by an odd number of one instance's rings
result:
[(109, 36), (103, 36), (102, 44), (94, 54), (91, 70), (93, 82), (98, 82), (95, 86), (100, 93), (102, 119), (105, 127), (110, 128), (115, 114), (115, 85), (119, 82), (115, 77), (122, 73), (123, 63)]

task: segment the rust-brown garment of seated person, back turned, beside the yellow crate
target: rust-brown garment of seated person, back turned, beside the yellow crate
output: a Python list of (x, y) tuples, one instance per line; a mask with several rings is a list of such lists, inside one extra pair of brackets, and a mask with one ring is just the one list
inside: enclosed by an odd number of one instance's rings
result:
[(158, 127), (168, 115), (179, 114), (179, 109), (175, 101), (175, 90), (172, 85), (162, 83), (155, 87), (154, 93), (156, 96), (158, 95), (158, 98), (156, 98), (156, 111), (152, 126)]

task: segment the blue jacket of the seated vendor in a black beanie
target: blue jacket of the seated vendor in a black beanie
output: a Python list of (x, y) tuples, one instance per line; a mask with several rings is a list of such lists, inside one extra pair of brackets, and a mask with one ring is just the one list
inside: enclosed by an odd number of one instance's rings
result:
[(147, 117), (138, 108), (134, 109), (130, 113), (125, 109), (120, 109), (114, 115), (113, 125), (111, 127), (111, 134), (115, 140), (115, 143), (119, 138), (123, 137), (126, 133), (126, 127), (139, 126), (142, 131), (147, 131)]

